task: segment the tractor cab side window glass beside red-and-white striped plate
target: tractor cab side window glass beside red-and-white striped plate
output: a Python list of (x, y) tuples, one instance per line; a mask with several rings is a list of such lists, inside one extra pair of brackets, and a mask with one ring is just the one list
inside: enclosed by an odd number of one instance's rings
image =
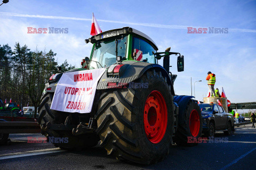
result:
[(147, 63), (155, 63), (155, 56), (153, 53), (156, 53), (156, 50), (148, 44), (145, 40), (137, 37), (132, 38), (132, 53), (134, 49), (142, 51), (142, 59), (138, 61), (143, 61)]

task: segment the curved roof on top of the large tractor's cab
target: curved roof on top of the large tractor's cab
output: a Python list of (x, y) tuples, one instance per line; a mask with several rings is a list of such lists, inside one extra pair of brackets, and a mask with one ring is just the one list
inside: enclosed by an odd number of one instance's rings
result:
[[(110, 34), (107, 37), (105, 37), (105, 36), (103, 37), (103, 35), (106, 35), (106, 33), (115, 32), (115, 31), (116, 31), (116, 34), (114, 33), (114, 34)], [(98, 40), (109, 38), (109, 37), (114, 37), (114, 36), (119, 36), (119, 35), (127, 35), (129, 33), (133, 33), (135, 35), (139, 35), (140, 37), (145, 38), (148, 41), (148, 43), (150, 43), (156, 50), (158, 50), (158, 47), (157, 47), (156, 43), (153, 41), (153, 39), (151, 39), (145, 33), (140, 32), (140, 31), (138, 31), (136, 29), (133, 29), (131, 27), (123, 27), (123, 28), (118, 28), (118, 29), (113, 29), (113, 30), (108, 30), (108, 31), (105, 31), (105, 32), (101, 32), (98, 35), (92, 36), (91, 39), (95, 39), (95, 40), (98, 41)], [(93, 43), (93, 41), (92, 41), (92, 43)]]

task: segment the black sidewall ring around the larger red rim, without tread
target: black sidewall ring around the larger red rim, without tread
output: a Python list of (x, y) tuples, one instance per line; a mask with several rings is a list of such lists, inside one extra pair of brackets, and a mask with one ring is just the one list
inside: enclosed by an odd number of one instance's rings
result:
[[(173, 134), (173, 125), (174, 125), (174, 113), (173, 113), (173, 97), (171, 95), (171, 92), (169, 90), (169, 87), (164, 79), (161, 79), (159, 77), (154, 77), (152, 81), (149, 80), (149, 86), (148, 88), (143, 89), (137, 89), (138, 95), (140, 96), (140, 100), (133, 102), (133, 105), (135, 106), (135, 113), (137, 114), (137, 128), (138, 128), (138, 140), (140, 143), (140, 146), (143, 147), (143, 151), (145, 151), (145, 154), (148, 155), (148, 152), (151, 152), (152, 155), (155, 156), (163, 156), (166, 152), (166, 149), (169, 149), (169, 146), (172, 141), (172, 134)], [(166, 131), (163, 139), (159, 143), (152, 143), (148, 140), (146, 136), (146, 132), (144, 129), (144, 122), (143, 122), (143, 112), (146, 100), (150, 94), (150, 92), (157, 90), (161, 92), (162, 96), (165, 99), (166, 107), (167, 107), (167, 126)]]

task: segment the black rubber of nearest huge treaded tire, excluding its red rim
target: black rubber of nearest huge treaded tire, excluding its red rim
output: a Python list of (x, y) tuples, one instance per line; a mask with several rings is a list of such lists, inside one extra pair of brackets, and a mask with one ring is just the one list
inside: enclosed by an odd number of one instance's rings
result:
[[(136, 82), (148, 82), (148, 88), (116, 88), (102, 93), (94, 116), (98, 123), (96, 132), (108, 155), (138, 164), (154, 164), (169, 154), (174, 125), (173, 96), (161, 72), (147, 71)], [(168, 111), (166, 132), (157, 144), (146, 137), (143, 125), (145, 101), (152, 90), (162, 92)]]

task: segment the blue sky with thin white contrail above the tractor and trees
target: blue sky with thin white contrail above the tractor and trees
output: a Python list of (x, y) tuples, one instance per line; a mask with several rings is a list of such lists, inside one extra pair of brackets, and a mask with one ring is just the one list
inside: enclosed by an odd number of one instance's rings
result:
[[(207, 94), (206, 76), (216, 74), (215, 87), (233, 102), (256, 101), (256, 1), (12, 1), (0, 6), (0, 44), (27, 44), (31, 50), (52, 49), (58, 62), (79, 66), (90, 55), (92, 12), (102, 31), (133, 27), (145, 32), (159, 52), (171, 47), (185, 56), (185, 71), (171, 71), (179, 95), (196, 99)], [(51, 16), (51, 17), (49, 17)], [(69, 17), (61, 19), (61, 17)], [(28, 34), (27, 27), (68, 28), (67, 34)], [(226, 34), (188, 34), (187, 27), (228, 28)]]

